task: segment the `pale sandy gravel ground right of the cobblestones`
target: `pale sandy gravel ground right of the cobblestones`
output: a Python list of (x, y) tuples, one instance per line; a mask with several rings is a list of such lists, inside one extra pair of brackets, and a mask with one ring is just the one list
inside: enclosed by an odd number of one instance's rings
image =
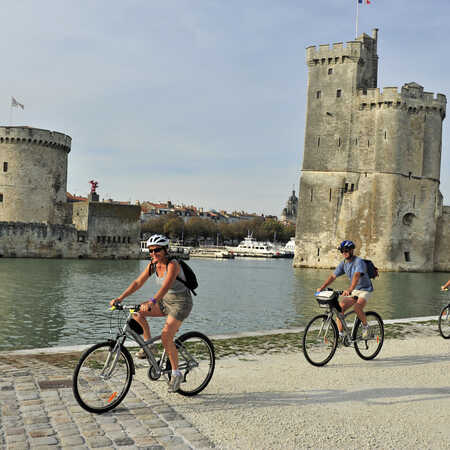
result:
[(450, 448), (449, 350), (418, 335), (386, 340), (373, 361), (340, 347), (321, 368), (301, 352), (245, 355), (217, 360), (196, 397), (149, 386), (218, 448)]

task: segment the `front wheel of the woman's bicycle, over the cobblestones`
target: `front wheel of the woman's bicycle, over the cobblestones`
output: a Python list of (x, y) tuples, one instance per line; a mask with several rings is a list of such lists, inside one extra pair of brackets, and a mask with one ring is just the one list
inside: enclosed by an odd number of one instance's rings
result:
[(134, 374), (130, 352), (116, 342), (87, 349), (73, 374), (73, 394), (86, 411), (101, 414), (115, 408), (127, 395)]

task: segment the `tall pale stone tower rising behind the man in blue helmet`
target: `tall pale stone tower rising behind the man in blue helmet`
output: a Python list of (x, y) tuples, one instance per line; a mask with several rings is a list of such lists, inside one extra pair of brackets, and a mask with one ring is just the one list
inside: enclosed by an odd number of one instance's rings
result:
[(377, 32), (307, 49), (296, 267), (333, 267), (352, 239), (381, 269), (434, 270), (446, 98), (416, 83), (381, 92)]

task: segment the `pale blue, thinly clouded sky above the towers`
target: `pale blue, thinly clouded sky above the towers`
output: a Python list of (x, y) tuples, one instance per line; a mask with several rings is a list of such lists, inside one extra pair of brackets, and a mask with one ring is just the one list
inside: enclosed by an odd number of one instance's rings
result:
[[(7, 0), (0, 124), (71, 136), (72, 194), (94, 179), (100, 198), (280, 215), (300, 180), (305, 49), (354, 39), (356, 1)], [(450, 96), (449, 23), (448, 0), (363, 4), (379, 87)]]

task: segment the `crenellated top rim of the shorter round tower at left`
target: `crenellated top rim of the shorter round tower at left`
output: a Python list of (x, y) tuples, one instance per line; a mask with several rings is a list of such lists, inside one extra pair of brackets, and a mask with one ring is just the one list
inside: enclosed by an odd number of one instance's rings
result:
[(70, 152), (72, 138), (57, 131), (31, 127), (0, 127), (0, 144), (35, 144)]

